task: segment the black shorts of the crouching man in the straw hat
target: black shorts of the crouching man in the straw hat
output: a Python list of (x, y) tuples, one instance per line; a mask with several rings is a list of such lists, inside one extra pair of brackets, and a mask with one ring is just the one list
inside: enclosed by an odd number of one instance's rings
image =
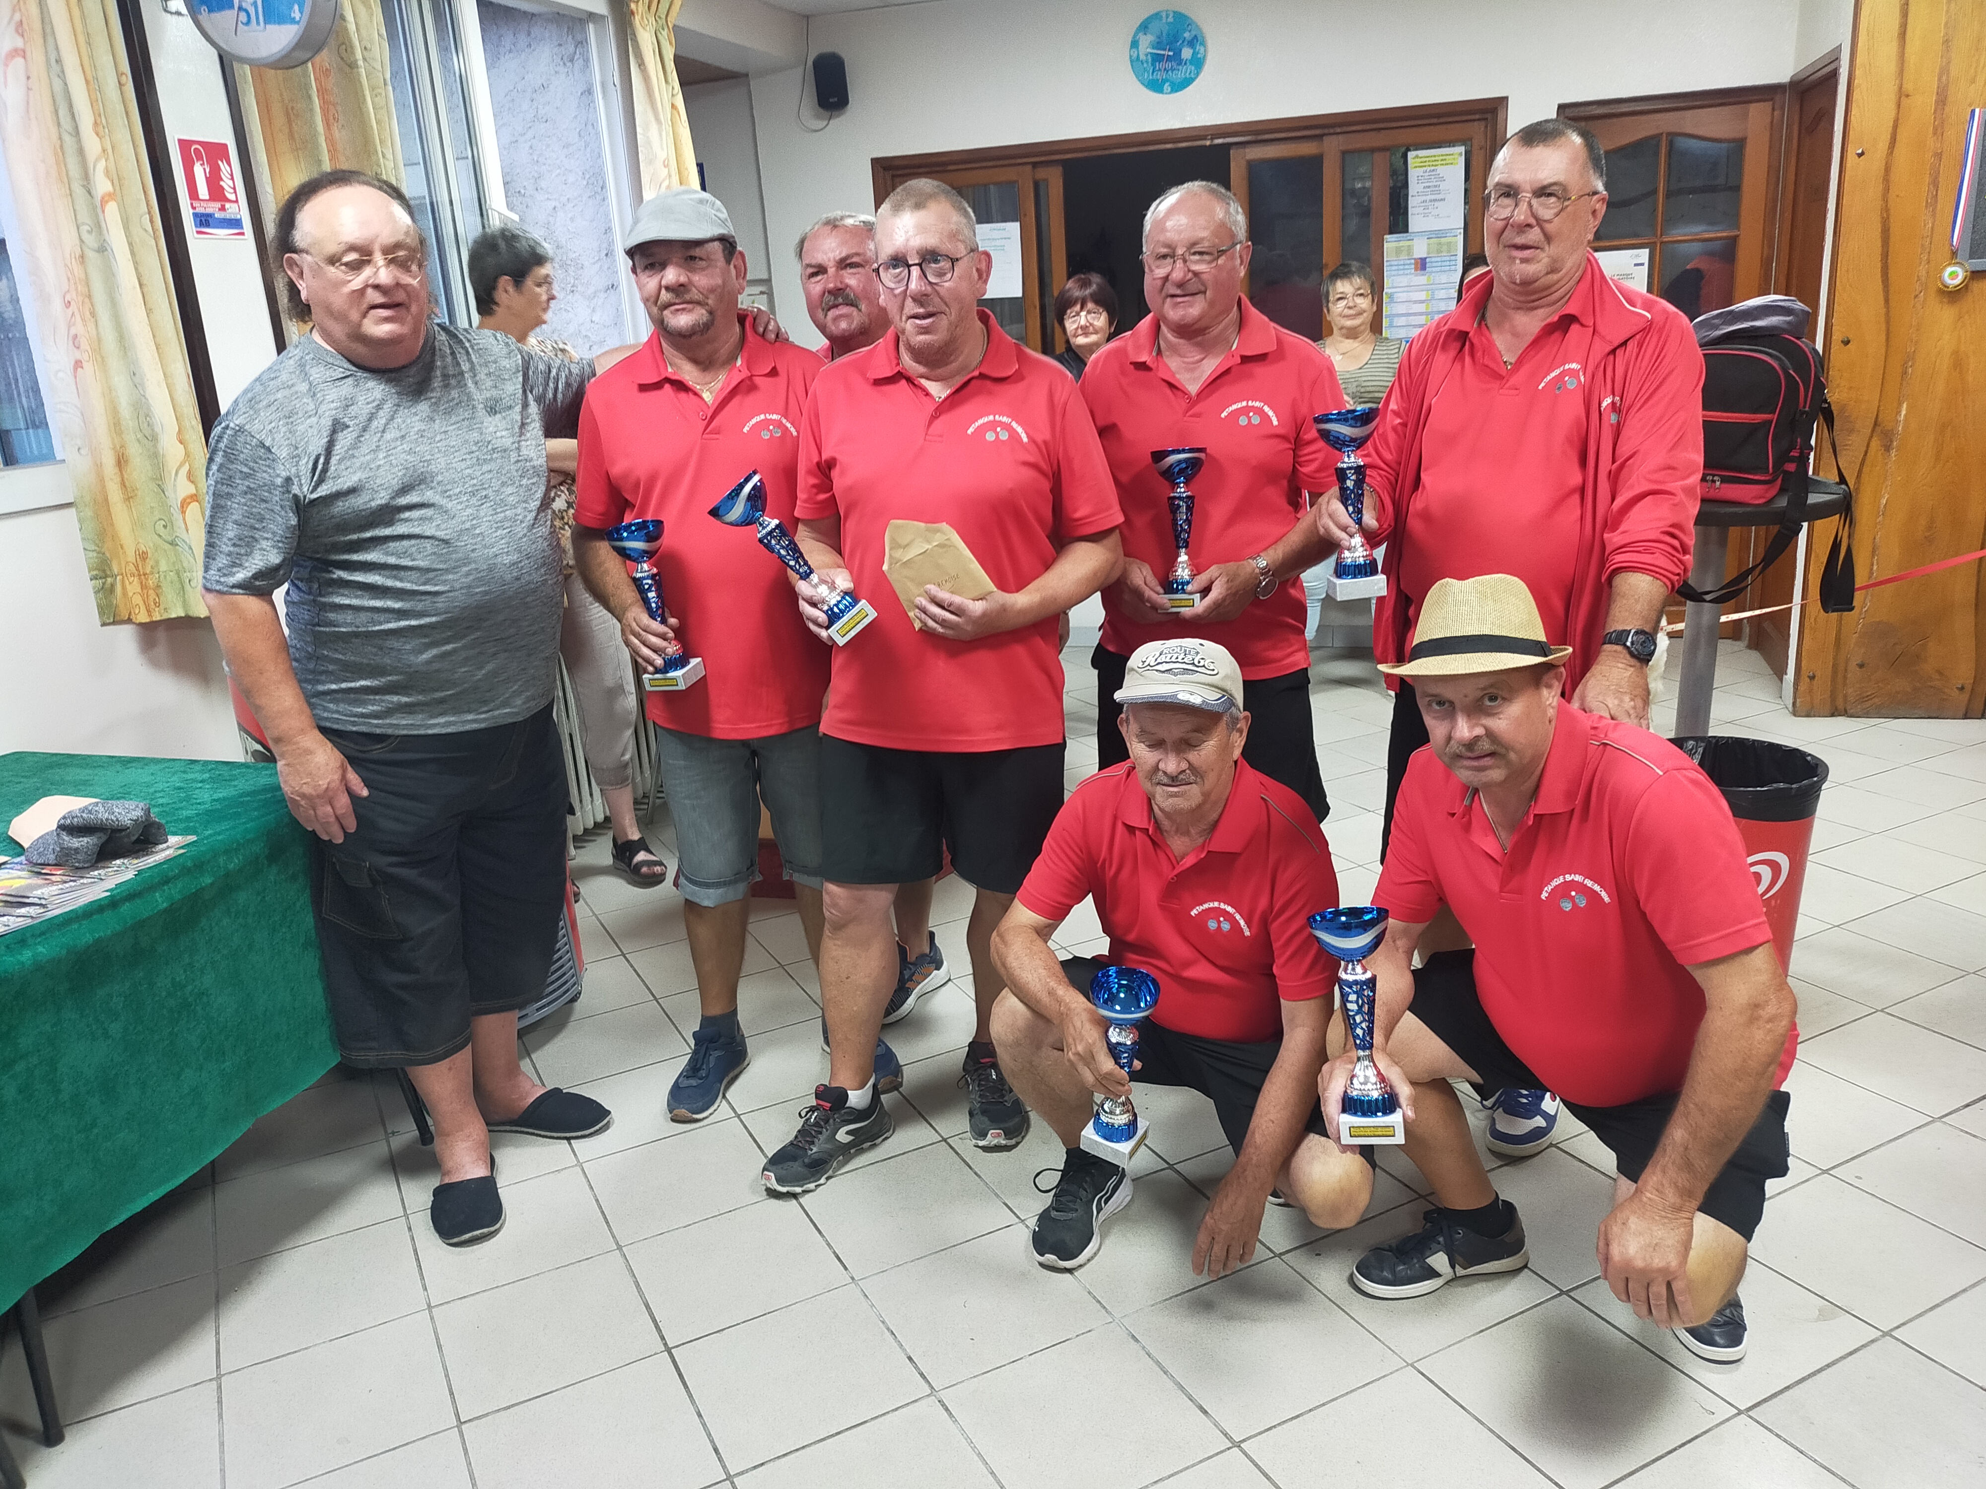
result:
[[(1527, 1066), (1503, 1036), (1476, 997), (1476, 953), (1440, 951), (1428, 965), (1414, 971), (1414, 1005), (1408, 1011), (1476, 1072), (1478, 1090), (1551, 1090), (1549, 1082)], [(1660, 1092), (1625, 1106), (1581, 1106), (1565, 1102), (1565, 1110), (1593, 1128), (1615, 1155), (1615, 1171), (1623, 1179), (1640, 1179), (1656, 1144), (1668, 1128), (1680, 1092)], [(1714, 1221), (1732, 1227), (1746, 1241), (1758, 1231), (1766, 1213), (1766, 1181), (1783, 1179), (1787, 1167), (1785, 1110), (1791, 1096), (1783, 1090), (1766, 1098), (1766, 1108), (1738, 1151), (1710, 1181), (1696, 1207)]]

